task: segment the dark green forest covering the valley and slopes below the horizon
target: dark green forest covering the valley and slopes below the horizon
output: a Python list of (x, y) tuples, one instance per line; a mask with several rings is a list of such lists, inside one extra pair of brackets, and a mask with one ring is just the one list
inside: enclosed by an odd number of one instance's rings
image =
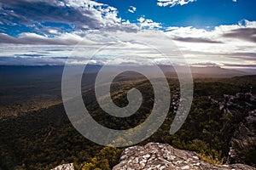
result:
[[(174, 135), (169, 134), (174, 117), (169, 111), (166, 121), (149, 139), (141, 142), (160, 142), (172, 146), (194, 150), (201, 159), (222, 164), (226, 161), (229, 142), (239, 117), (222, 116), (218, 108), (207, 100), (208, 95), (216, 99), (223, 94), (239, 91), (239, 79), (197, 80), (195, 97), (189, 116), (183, 127)], [(178, 88), (177, 79), (169, 79), (171, 93)], [(234, 83), (236, 82), (236, 83)], [(241, 80), (243, 83), (243, 80)], [(254, 86), (256, 87), (256, 86)], [(114, 82), (112, 98), (116, 105), (127, 105), (127, 90), (138, 88), (143, 92), (143, 105), (136, 114), (113, 117), (104, 113), (97, 105), (93, 90), (84, 93), (85, 105), (91, 116), (105, 127), (128, 129), (142, 123), (150, 114), (154, 104), (153, 89), (146, 80)], [(224, 122), (230, 123), (229, 130), (222, 131)], [(111, 169), (119, 161), (124, 148), (103, 147), (90, 142), (79, 134), (69, 122), (63, 105), (53, 105), (48, 109), (32, 111), (0, 122), (0, 169), (49, 169), (62, 163), (74, 162), (76, 169)], [(108, 134), (106, 134), (108, 138)], [(244, 151), (247, 164), (255, 167), (255, 144)]]

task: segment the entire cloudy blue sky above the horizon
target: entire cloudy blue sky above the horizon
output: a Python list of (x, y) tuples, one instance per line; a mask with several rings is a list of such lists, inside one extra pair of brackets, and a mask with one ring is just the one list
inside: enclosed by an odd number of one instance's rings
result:
[(189, 65), (256, 69), (254, 1), (0, 0), (0, 65), (183, 65), (182, 54)]

